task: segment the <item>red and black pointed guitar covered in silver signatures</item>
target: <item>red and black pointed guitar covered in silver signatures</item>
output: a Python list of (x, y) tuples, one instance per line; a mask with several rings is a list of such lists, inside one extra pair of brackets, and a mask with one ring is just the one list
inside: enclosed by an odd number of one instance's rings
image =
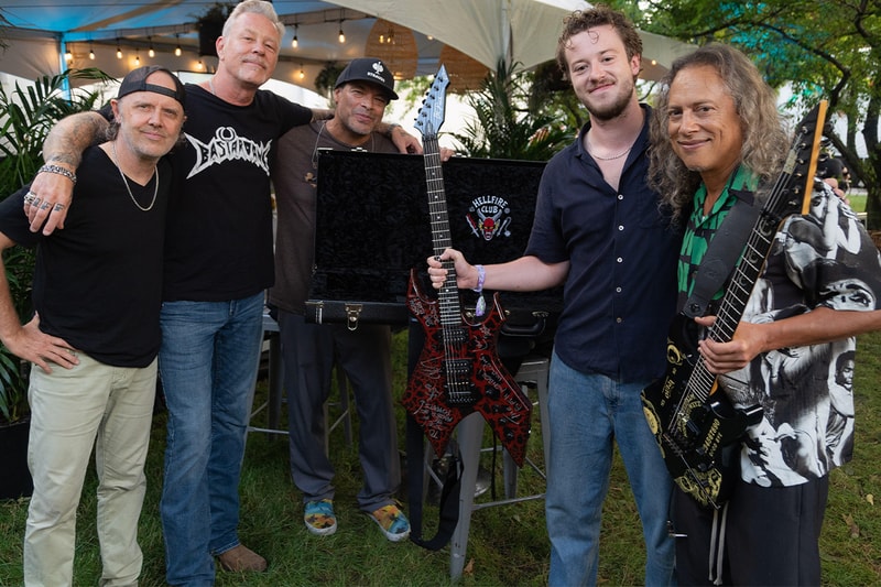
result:
[[(448, 84), (446, 68), (440, 66), (416, 121), (423, 137), (432, 244), (436, 256), (452, 246), (437, 143)], [(456, 271), (450, 262), (446, 262), (445, 268), (447, 280), (437, 298), (425, 295), (416, 271), (411, 271), (407, 307), (425, 330), (425, 346), (402, 403), (425, 432), (438, 457), (444, 455), (456, 424), (477, 411), (514, 463), (522, 465), (532, 403), (496, 351), (504, 311), (494, 294), (486, 316), (475, 320), (466, 318), (456, 286)]]

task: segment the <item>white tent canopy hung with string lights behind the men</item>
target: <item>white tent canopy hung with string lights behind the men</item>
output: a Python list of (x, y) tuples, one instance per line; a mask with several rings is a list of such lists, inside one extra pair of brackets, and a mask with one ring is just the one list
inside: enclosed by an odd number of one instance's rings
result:
[[(121, 77), (137, 66), (135, 59), (173, 70), (210, 72), (216, 57), (198, 55), (196, 21), (214, 3), (8, 0), (0, 7), (0, 15), (11, 25), (0, 26), (0, 39), (9, 44), (0, 51), (0, 72), (34, 78), (63, 67), (96, 66)], [(563, 18), (589, 4), (584, 0), (275, 0), (273, 6), (287, 24), (275, 78), (313, 87), (328, 62), (345, 63), (363, 55), (377, 17), (414, 31), (417, 74), (425, 75), (437, 70), (444, 43), (490, 69), (501, 57), (523, 68), (552, 59)], [(340, 30), (345, 43), (337, 39)], [(648, 78), (657, 74), (652, 61), (668, 66), (689, 48), (650, 33), (643, 33), (643, 43)], [(176, 46), (183, 50), (180, 57), (174, 55)], [(121, 59), (116, 57), (117, 47)], [(67, 51), (69, 62), (63, 58)], [(90, 52), (95, 59), (89, 58)]]

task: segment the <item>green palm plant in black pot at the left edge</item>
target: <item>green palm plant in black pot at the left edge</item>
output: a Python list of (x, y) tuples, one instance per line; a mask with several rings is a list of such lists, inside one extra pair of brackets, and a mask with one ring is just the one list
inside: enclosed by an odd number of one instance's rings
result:
[[(15, 84), (7, 91), (0, 86), (0, 199), (29, 183), (43, 164), (43, 140), (52, 124), (65, 116), (91, 109), (99, 93), (76, 93), (67, 99), (63, 89), (69, 79), (108, 80), (99, 69), (68, 70), (43, 76), (32, 86)], [(31, 281), (34, 251), (12, 247), (3, 252), (3, 265), (13, 305), (22, 322), (33, 315)], [(30, 494), (28, 471), (28, 377), (30, 365), (0, 344), (0, 446), (3, 447), (3, 471), (0, 474), (0, 499)]]

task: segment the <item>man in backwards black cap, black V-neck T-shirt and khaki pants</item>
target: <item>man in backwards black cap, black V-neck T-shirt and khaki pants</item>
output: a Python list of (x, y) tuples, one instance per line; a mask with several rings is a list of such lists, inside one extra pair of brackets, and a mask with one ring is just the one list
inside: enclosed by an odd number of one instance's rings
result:
[(141, 67), (126, 76), (110, 104), (116, 122), (108, 141), (86, 150), (78, 178), (64, 167), (42, 170), (75, 184), (77, 205), (65, 230), (31, 232), (23, 203), (46, 203), (30, 186), (0, 204), (0, 249), (37, 247), (36, 315), (28, 324), (21, 325), (0, 279), (0, 339), (34, 366), (25, 585), (73, 583), (76, 510), (93, 445), (101, 580), (135, 585), (141, 574), (138, 519), (172, 184), (171, 165), (160, 157), (181, 138), (184, 87), (165, 68)]

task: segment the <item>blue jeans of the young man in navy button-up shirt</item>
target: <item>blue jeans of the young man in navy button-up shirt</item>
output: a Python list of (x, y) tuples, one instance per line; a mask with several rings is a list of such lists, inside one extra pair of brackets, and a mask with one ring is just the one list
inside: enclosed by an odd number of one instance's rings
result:
[(667, 533), (673, 480), (642, 412), (648, 381), (621, 383), (551, 361), (551, 458), (545, 515), (552, 586), (596, 585), (602, 501), (612, 443), (627, 468), (645, 540), (645, 585), (673, 580), (675, 544)]

